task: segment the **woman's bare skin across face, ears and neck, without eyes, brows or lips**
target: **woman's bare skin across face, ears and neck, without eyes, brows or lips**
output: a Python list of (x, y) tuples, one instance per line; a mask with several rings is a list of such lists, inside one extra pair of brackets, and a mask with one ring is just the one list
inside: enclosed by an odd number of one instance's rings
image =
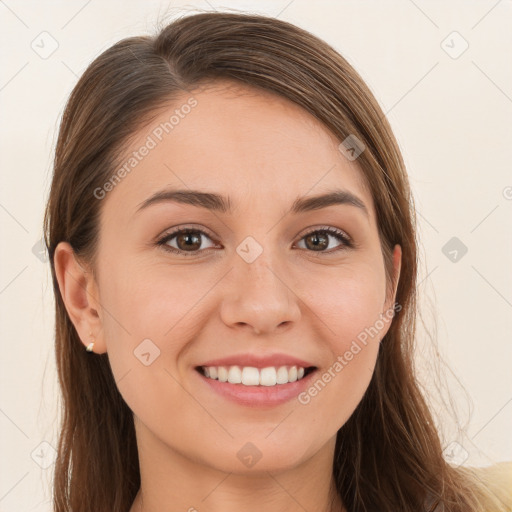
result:
[[(141, 129), (127, 155), (189, 97)], [(67, 243), (55, 253), (70, 318), (85, 346), (92, 332), (94, 351), (108, 352), (134, 413), (142, 492), (131, 512), (342, 510), (331, 481), (336, 433), (368, 387), (388, 317), (307, 405), (238, 405), (211, 391), (194, 368), (271, 351), (310, 361), (319, 375), (332, 367), (395, 301), (396, 288), (385, 293), (372, 197), (357, 161), (286, 99), (229, 82), (193, 97), (190, 114), (101, 200), (96, 268), (78, 262)], [(227, 195), (233, 213), (171, 201), (136, 213), (166, 187)], [(358, 196), (368, 215), (348, 204), (286, 214), (297, 197), (335, 188)], [(192, 256), (156, 244), (178, 225), (207, 233)], [(332, 235), (321, 251), (306, 245), (308, 232), (325, 227), (342, 230), (356, 247)], [(252, 263), (236, 251), (247, 236), (263, 248)], [(176, 237), (167, 243), (186, 249)], [(397, 245), (395, 282), (400, 260)], [(148, 338), (160, 355), (146, 366), (134, 350)], [(250, 468), (237, 457), (247, 442), (261, 452)]]

